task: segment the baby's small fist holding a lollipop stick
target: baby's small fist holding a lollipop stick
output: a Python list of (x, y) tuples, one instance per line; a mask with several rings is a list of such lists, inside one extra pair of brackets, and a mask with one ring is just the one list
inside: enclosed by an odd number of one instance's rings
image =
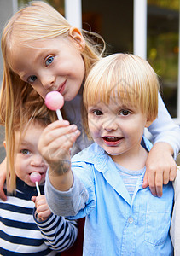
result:
[(32, 201), (35, 203), (38, 218), (42, 219), (42, 221), (49, 218), (51, 212), (46, 202), (45, 195), (32, 196)]

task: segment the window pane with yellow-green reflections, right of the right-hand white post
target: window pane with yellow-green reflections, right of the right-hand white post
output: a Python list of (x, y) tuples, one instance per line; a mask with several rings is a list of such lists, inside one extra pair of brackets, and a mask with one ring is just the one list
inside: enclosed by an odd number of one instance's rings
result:
[(177, 117), (178, 0), (148, 0), (148, 61), (160, 76), (162, 97)]

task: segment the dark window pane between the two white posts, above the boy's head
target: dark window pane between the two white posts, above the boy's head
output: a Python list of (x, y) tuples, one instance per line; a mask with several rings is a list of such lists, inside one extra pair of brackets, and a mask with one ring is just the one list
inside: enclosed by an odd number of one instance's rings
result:
[(107, 54), (133, 50), (132, 0), (82, 0), (83, 28), (98, 32)]

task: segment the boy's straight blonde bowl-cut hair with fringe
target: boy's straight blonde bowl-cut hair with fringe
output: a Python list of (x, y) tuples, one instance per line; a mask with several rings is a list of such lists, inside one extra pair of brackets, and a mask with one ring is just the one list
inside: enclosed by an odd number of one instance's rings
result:
[(84, 84), (84, 128), (89, 134), (87, 108), (98, 102), (131, 103), (149, 120), (158, 114), (159, 79), (148, 61), (131, 54), (109, 55), (96, 62)]

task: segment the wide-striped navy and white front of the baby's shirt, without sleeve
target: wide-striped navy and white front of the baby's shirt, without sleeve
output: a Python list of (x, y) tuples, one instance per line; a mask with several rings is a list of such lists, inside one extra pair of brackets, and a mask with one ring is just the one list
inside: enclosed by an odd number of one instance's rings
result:
[[(18, 193), (17, 193), (18, 195)], [(0, 255), (55, 255), (44, 239), (32, 216), (34, 204), (15, 196), (0, 201)]]

